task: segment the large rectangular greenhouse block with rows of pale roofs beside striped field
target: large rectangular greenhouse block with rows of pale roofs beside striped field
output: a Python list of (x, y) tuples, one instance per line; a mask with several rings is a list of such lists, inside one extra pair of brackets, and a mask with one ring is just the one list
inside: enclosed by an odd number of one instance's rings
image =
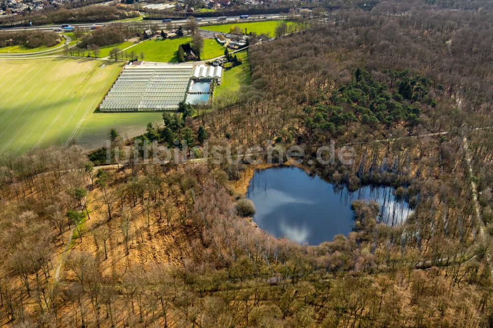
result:
[(176, 110), (185, 99), (193, 65), (125, 66), (100, 110)]

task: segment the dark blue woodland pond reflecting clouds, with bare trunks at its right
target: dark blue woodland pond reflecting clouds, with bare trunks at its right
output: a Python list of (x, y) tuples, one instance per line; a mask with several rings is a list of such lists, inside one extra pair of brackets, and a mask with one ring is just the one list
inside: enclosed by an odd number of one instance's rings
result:
[(405, 201), (395, 199), (392, 187), (362, 186), (350, 192), (293, 166), (256, 170), (246, 197), (255, 204), (253, 221), (260, 229), (309, 245), (348, 235), (354, 226), (351, 204), (357, 199), (376, 200), (377, 221), (388, 225), (398, 225), (412, 213)]

